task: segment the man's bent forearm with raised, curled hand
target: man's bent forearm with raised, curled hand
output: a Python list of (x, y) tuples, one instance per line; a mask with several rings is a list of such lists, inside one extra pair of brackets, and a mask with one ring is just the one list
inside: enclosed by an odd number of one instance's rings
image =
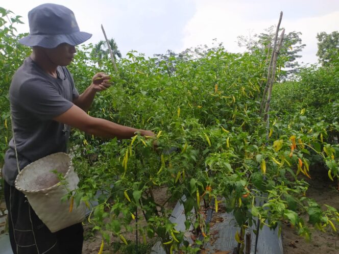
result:
[(92, 78), (92, 83), (89, 87), (87, 87), (87, 89), (80, 94), (78, 98), (74, 99), (73, 103), (83, 111), (87, 112), (93, 102), (95, 93), (106, 90), (111, 86), (111, 82), (109, 80), (110, 77), (104, 72), (96, 73)]

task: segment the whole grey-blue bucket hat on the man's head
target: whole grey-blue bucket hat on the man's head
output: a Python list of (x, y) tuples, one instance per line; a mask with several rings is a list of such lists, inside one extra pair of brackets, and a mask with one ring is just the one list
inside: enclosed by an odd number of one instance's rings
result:
[(78, 45), (92, 35), (80, 32), (74, 13), (62, 5), (43, 4), (28, 13), (30, 34), (19, 42), (26, 46), (54, 48), (61, 43)]

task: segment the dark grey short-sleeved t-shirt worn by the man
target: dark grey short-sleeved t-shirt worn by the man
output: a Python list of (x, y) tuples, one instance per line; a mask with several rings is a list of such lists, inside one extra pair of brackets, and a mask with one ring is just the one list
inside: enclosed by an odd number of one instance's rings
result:
[[(66, 151), (69, 127), (53, 118), (72, 107), (79, 96), (66, 67), (58, 78), (45, 73), (30, 57), (15, 72), (9, 90), (12, 124), (20, 170), (47, 155)], [(17, 163), (13, 139), (6, 151), (3, 177), (14, 185)]]

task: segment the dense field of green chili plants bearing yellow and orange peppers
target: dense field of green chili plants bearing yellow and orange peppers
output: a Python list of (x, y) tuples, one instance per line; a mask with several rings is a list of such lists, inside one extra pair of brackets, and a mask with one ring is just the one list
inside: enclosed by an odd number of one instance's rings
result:
[[(8, 89), (30, 48), (17, 44), (23, 35), (12, 26), (19, 17), (10, 27), (0, 20), (2, 164), (11, 138)], [(117, 60), (117, 72), (108, 55), (96, 58), (92, 49), (79, 46), (68, 66), (79, 92), (99, 71), (111, 75), (113, 86), (96, 95), (88, 114), (156, 136), (105, 140), (72, 130), (70, 154), (80, 184), (67, 201), (91, 208), (86, 253), (100, 246), (103, 253), (131, 253), (136, 232), (140, 253), (156, 241), (166, 253), (197, 253), (210, 240), (209, 207), (233, 214), (239, 252), (257, 220), (250, 234), (263, 225), (277, 228), (285, 254), (337, 251), (338, 54), (326, 65), (300, 68), (287, 81), (288, 47), (282, 48), (268, 99), (267, 47), (233, 54), (218, 44), (155, 58), (130, 52)], [(263, 104), (268, 112), (260, 109), (262, 100), (269, 100)], [(178, 200), (183, 231), (169, 220)], [(192, 242), (185, 235), (190, 228)], [(89, 246), (93, 239), (96, 247)]]

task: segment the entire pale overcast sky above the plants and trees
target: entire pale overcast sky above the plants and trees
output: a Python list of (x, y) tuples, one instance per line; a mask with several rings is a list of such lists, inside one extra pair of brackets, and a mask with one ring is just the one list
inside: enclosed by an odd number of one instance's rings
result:
[[(29, 32), (27, 13), (46, 3), (41, 0), (3, 1), (0, 6), (22, 16), (19, 32)], [(93, 34), (88, 42), (104, 39), (103, 24), (123, 55), (137, 50), (146, 56), (176, 53), (198, 45), (211, 45), (214, 38), (229, 52), (241, 52), (237, 36), (264, 32), (276, 25), (283, 11), (281, 27), (285, 33), (302, 32), (301, 61), (317, 62), (319, 32), (339, 30), (338, 0), (47, 0), (71, 9), (81, 31)]]

